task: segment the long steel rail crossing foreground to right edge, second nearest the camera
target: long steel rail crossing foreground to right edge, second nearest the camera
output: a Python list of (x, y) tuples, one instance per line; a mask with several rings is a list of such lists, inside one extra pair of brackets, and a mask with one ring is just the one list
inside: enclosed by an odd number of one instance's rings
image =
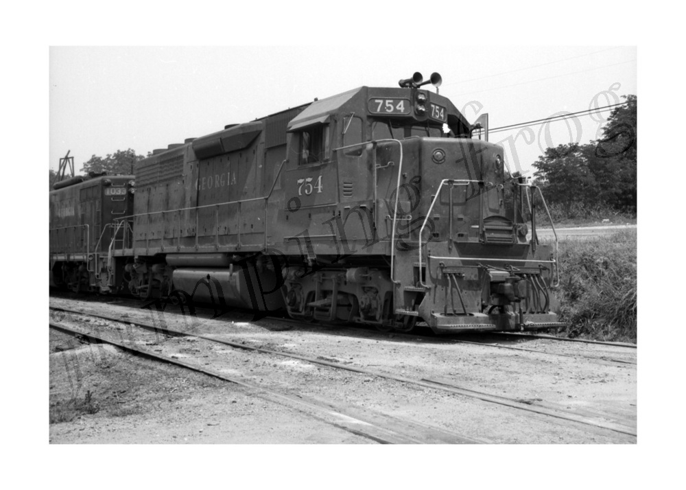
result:
[(404, 376), (397, 376), (397, 375), (392, 375), (388, 373), (382, 373), (380, 371), (371, 371), (369, 369), (363, 369), (363, 368), (356, 368), (354, 366), (345, 366), (345, 365), (340, 365), (334, 362), (328, 362), (325, 360), (320, 360), (320, 359), (315, 359), (315, 358), (309, 358), (305, 355), (298, 355), (298, 354), (293, 354), (293, 353), (287, 353), (287, 352), (281, 352), (281, 351), (272, 351), (270, 349), (263, 349), (261, 347), (252, 347), (250, 345), (245, 345), (241, 344), (239, 342), (230, 342), (228, 340), (221, 340), (209, 336), (203, 336), (200, 334), (189, 334), (184, 331), (179, 331), (176, 329), (171, 329), (165, 325), (165, 327), (160, 328), (156, 327), (154, 325), (149, 325), (145, 323), (140, 323), (137, 321), (130, 322), (128, 320), (121, 320), (120, 318), (114, 318), (114, 317), (108, 317), (105, 315), (99, 315), (99, 314), (91, 314), (87, 312), (78, 312), (78, 311), (73, 311), (73, 310), (68, 310), (64, 308), (57, 308), (57, 307), (51, 307), (51, 309), (54, 310), (60, 310), (63, 312), (69, 312), (69, 313), (75, 313), (75, 314), (81, 314), (81, 315), (86, 315), (86, 316), (95, 316), (97, 318), (103, 318), (106, 320), (111, 320), (119, 323), (128, 323), (129, 325), (135, 325), (138, 327), (141, 327), (143, 329), (147, 330), (152, 330), (155, 332), (161, 332), (163, 334), (168, 334), (172, 336), (189, 336), (189, 337), (196, 337), (196, 338), (202, 338), (204, 340), (209, 340), (211, 342), (217, 342), (223, 345), (228, 345), (230, 347), (235, 347), (237, 349), (246, 349), (248, 351), (255, 351), (259, 353), (266, 353), (266, 354), (272, 354), (272, 355), (281, 355), (283, 357), (287, 358), (293, 358), (297, 360), (303, 360), (305, 362), (311, 362), (312, 364), (320, 364), (322, 366), (329, 366), (333, 367), (335, 369), (344, 369), (345, 371), (352, 371), (355, 373), (361, 373), (364, 375), (368, 376), (375, 376), (375, 377), (381, 377), (387, 380), (394, 380), (397, 382), (401, 382), (403, 384), (412, 384), (414, 386), (423, 386), (424, 388), (432, 388), (436, 390), (442, 390), (446, 391), (448, 393), (453, 393), (456, 395), (463, 395), (466, 397), (471, 397), (471, 398), (476, 398), (480, 399), (482, 401), (488, 401), (490, 403), (495, 403), (499, 405), (504, 405), (504, 406), (509, 406), (510, 408), (517, 408), (518, 410), (524, 410), (527, 412), (533, 412), (537, 413), (539, 415), (546, 415), (549, 417), (555, 417), (557, 419), (565, 419), (567, 421), (572, 421), (576, 423), (582, 423), (584, 425), (592, 425), (594, 427), (606, 429), (606, 430), (611, 430), (613, 432), (621, 432), (623, 434), (628, 434), (630, 436), (636, 436), (635, 430), (632, 430), (631, 428), (625, 428), (624, 426), (618, 426), (612, 423), (602, 423), (599, 421), (594, 421), (591, 419), (588, 419), (587, 417), (582, 417), (579, 415), (574, 414), (573, 412), (565, 412), (564, 410), (558, 410), (555, 408), (544, 408), (544, 407), (533, 407), (530, 406), (527, 402), (522, 402), (519, 401), (518, 399), (500, 399), (502, 397), (498, 397), (497, 395), (490, 395), (488, 393), (480, 393), (480, 392), (475, 392), (474, 390), (470, 390), (469, 388), (464, 388), (462, 386), (458, 386), (455, 384), (437, 384), (436, 382), (431, 382), (431, 380), (413, 380), (411, 378), (407, 378)]

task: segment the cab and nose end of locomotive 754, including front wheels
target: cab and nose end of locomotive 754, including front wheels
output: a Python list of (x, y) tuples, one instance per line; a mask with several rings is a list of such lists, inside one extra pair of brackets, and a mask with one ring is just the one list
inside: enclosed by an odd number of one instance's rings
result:
[(447, 98), (400, 84), (314, 102), (289, 123), (300, 143), (282, 226), (304, 261), (284, 272), (289, 314), (437, 332), (563, 325), (552, 247), (535, 233), (543, 196), (506, 177), (503, 149), (472, 138)]

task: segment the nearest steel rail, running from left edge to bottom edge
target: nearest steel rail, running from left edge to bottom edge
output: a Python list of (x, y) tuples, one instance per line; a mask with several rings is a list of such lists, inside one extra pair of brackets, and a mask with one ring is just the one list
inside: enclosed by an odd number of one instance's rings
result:
[[(140, 324), (134, 324), (141, 326)], [(305, 397), (302, 397), (300, 395), (289, 395), (287, 393), (281, 393), (280, 391), (273, 390), (271, 388), (265, 388), (263, 386), (259, 386), (257, 384), (252, 384), (248, 382), (244, 382), (241, 380), (238, 380), (234, 377), (229, 377), (227, 375), (224, 375), (222, 373), (219, 373), (217, 371), (213, 371), (211, 369), (204, 368), (202, 366), (196, 366), (194, 364), (191, 364), (189, 362), (184, 362), (182, 360), (178, 360), (175, 358), (167, 358), (165, 355), (160, 355), (157, 353), (153, 353), (150, 351), (145, 351), (143, 349), (137, 349), (136, 347), (132, 347), (130, 345), (123, 344), (122, 342), (117, 342), (116, 340), (110, 340), (107, 338), (103, 338), (100, 336), (95, 336), (93, 334), (88, 334), (84, 331), (79, 331), (76, 329), (72, 329), (70, 327), (67, 327), (66, 325), (61, 325), (58, 323), (53, 323), (49, 322), (49, 327), (52, 329), (56, 329), (58, 331), (62, 331), (64, 334), (69, 334), (71, 336), (82, 336), (83, 338), (87, 338), (89, 341), (95, 341), (95, 342), (103, 342), (109, 345), (114, 345), (115, 347), (119, 347), (119, 349), (123, 349), (124, 351), (133, 353), (134, 355), (141, 355), (144, 358), (150, 358), (153, 360), (157, 360), (159, 362), (166, 362), (167, 364), (174, 364), (176, 366), (181, 366), (186, 369), (189, 369), (191, 371), (196, 371), (198, 373), (202, 373), (205, 375), (209, 375), (212, 377), (216, 377), (220, 380), (230, 382), (233, 384), (237, 384), (238, 386), (242, 386), (243, 388), (247, 388), (248, 390), (252, 391), (257, 391), (261, 392), (265, 395), (269, 395), (270, 397), (274, 397), (276, 399), (281, 400), (281, 403), (283, 404), (283, 401), (287, 401), (291, 404), (296, 404), (300, 407), (307, 408), (309, 410), (316, 410), (318, 412), (323, 412), (321, 416), (316, 416), (313, 415), (309, 412), (306, 412), (303, 410), (303, 408), (298, 409), (300, 412), (305, 413), (306, 415), (309, 415), (309, 417), (313, 417), (314, 419), (318, 419), (324, 423), (327, 423), (329, 425), (333, 425), (336, 428), (340, 428), (342, 430), (345, 430), (346, 432), (351, 432), (353, 434), (356, 434), (358, 436), (365, 437), (366, 439), (370, 439), (372, 441), (376, 441), (381, 444), (407, 444), (407, 443), (425, 443), (425, 439), (422, 439), (420, 436), (407, 436), (406, 434), (403, 434), (402, 432), (398, 432), (397, 430), (394, 429), (389, 429), (385, 428), (381, 425), (378, 425), (377, 423), (374, 423), (373, 421), (370, 420), (364, 420), (360, 418), (359, 416), (353, 415), (351, 413), (346, 413), (344, 410), (342, 410), (339, 406), (335, 406), (333, 403), (328, 403), (328, 402), (322, 402), (322, 401), (317, 401), (315, 399), (307, 399)], [(263, 397), (263, 395), (257, 395), (260, 397)], [(273, 400), (272, 400), (273, 401)], [(368, 410), (370, 411), (370, 410)], [(324, 415), (333, 415), (335, 417), (340, 417), (343, 419), (342, 421), (335, 423), (327, 420)], [(422, 430), (426, 430), (427, 432), (423, 434), (425, 437), (431, 437), (433, 436), (435, 439), (438, 440), (440, 443), (477, 443), (478, 441), (472, 440), (472, 439), (467, 439), (466, 437), (459, 436), (458, 434), (453, 434), (451, 432), (448, 432), (446, 430), (442, 429), (437, 429), (437, 428), (432, 428), (431, 426), (422, 424), (422, 423), (415, 423), (415, 422), (408, 422), (408, 421), (402, 421), (401, 419), (394, 419), (394, 417), (390, 417), (385, 414), (379, 414), (377, 417), (383, 417), (385, 419), (389, 419), (390, 421), (394, 421), (395, 423), (401, 423), (401, 425), (405, 425), (407, 427), (411, 427), (412, 425), (415, 425), (418, 428), (421, 428)], [(368, 416), (370, 417), (370, 416)], [(346, 422), (345, 419), (351, 420), (351, 422)], [(348, 424), (354, 425), (354, 427), (350, 427)]]

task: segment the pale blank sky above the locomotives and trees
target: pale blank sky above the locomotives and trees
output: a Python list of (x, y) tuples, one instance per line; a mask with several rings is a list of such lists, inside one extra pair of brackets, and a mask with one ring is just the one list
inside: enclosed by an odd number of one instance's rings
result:
[[(397, 86), (419, 71), (442, 76), (440, 94), (490, 128), (578, 112), (637, 95), (635, 46), (51, 47), (49, 166), (71, 151), (132, 148), (146, 155), (357, 86)], [(495, 132), (512, 170), (533, 172), (548, 146), (598, 138), (609, 112)], [(531, 175), (529, 173), (528, 175)]]

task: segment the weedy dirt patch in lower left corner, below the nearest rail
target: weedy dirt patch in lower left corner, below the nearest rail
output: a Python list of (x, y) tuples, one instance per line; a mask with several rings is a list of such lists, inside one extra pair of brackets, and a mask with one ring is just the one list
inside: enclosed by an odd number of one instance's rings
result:
[(368, 442), (222, 380), (55, 331), (50, 419), (51, 443)]

